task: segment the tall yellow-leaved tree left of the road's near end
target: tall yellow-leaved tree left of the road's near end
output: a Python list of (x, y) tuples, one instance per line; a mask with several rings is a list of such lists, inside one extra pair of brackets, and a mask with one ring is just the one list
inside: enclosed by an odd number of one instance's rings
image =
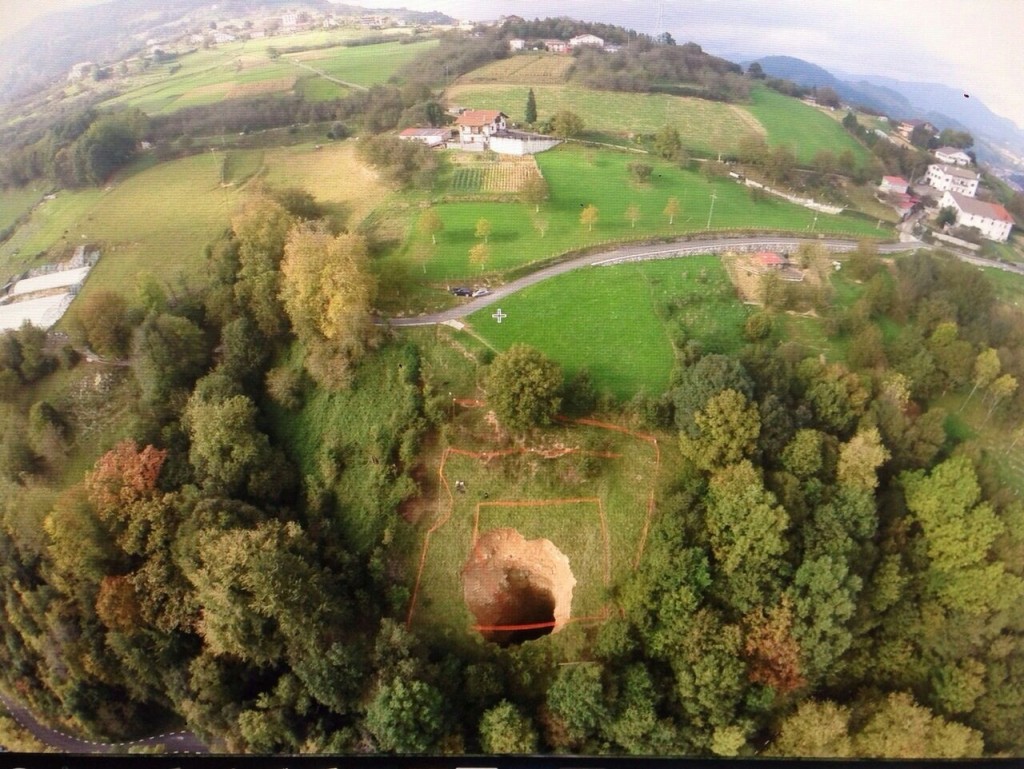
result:
[(373, 342), (377, 281), (366, 239), (302, 224), (289, 234), (281, 271), (285, 309), (307, 347), (306, 370), (326, 387), (346, 386)]

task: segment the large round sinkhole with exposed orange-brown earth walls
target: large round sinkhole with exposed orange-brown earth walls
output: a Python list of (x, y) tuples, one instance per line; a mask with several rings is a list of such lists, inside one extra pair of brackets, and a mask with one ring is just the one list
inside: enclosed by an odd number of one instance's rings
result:
[(463, 595), (480, 634), (503, 646), (557, 633), (568, 622), (575, 578), (549, 540), (514, 528), (482, 533), (462, 568)]

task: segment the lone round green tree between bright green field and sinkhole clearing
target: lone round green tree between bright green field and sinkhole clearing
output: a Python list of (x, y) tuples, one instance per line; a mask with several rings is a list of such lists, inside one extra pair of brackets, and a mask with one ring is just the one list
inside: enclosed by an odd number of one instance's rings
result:
[(562, 371), (544, 353), (514, 344), (487, 371), (487, 402), (509, 430), (551, 424), (561, 405)]

